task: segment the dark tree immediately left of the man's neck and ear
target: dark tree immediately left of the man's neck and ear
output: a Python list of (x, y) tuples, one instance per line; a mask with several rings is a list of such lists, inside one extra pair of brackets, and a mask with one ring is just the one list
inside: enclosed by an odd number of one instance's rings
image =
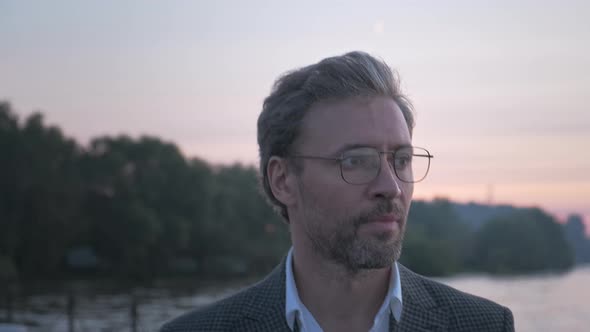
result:
[(242, 269), (268, 272), (285, 255), (290, 241), (287, 227), (261, 195), (257, 171), (236, 164), (219, 168), (214, 179), (211, 229), (217, 236), (207, 251)]

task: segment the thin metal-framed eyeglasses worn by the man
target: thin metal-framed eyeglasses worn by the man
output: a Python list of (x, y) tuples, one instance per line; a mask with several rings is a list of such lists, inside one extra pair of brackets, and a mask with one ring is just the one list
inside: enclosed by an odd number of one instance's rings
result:
[(433, 155), (424, 148), (406, 146), (395, 151), (379, 151), (371, 147), (354, 148), (342, 153), (340, 158), (292, 155), (292, 158), (338, 161), (342, 179), (350, 184), (367, 184), (381, 171), (381, 156), (400, 181), (415, 183), (424, 180), (430, 169)]

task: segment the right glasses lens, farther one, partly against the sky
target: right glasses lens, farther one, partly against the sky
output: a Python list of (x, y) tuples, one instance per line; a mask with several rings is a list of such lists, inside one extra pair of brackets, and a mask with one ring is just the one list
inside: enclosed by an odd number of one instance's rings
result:
[(430, 168), (430, 154), (422, 148), (401, 148), (394, 153), (394, 170), (397, 177), (404, 182), (424, 180)]

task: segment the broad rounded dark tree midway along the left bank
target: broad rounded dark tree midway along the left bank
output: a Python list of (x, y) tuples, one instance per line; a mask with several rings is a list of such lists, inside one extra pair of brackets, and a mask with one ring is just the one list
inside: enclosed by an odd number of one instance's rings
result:
[(150, 277), (188, 250), (199, 202), (207, 201), (200, 187), (207, 174), (189, 167), (176, 146), (153, 137), (98, 138), (84, 166), (92, 242), (113, 268)]

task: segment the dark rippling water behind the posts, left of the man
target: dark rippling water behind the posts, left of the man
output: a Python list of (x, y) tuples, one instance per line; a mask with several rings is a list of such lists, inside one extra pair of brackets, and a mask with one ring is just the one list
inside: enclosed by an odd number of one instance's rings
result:
[[(192, 308), (203, 306), (236, 292), (237, 288), (209, 290), (200, 294), (178, 294), (178, 290), (135, 289), (138, 299), (135, 331), (157, 331), (163, 322)], [(45, 294), (19, 299), (13, 305), (12, 321), (27, 326), (27, 332), (69, 331), (68, 297), (65, 294)], [(77, 296), (73, 314), (75, 332), (133, 331), (132, 296), (102, 294)], [(0, 321), (7, 316), (1, 306)], [(0, 329), (1, 331), (1, 329)]]

